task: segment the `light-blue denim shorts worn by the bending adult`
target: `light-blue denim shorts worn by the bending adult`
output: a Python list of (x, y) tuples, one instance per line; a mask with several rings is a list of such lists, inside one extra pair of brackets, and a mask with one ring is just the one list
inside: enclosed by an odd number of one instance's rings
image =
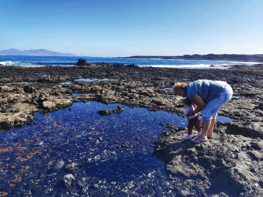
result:
[(227, 85), (219, 92), (217, 98), (206, 103), (205, 108), (201, 111), (203, 120), (212, 120), (213, 116), (217, 116), (217, 112), (232, 98), (233, 90)]

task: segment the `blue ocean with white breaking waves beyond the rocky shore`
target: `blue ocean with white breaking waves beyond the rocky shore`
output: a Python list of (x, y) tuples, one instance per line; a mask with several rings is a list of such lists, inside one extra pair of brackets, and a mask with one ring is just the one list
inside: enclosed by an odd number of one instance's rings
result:
[[(137, 66), (153, 66), (166, 68), (221, 68), (226, 69), (227, 65), (252, 65), (256, 62), (237, 61), (210, 61), (210, 60), (166, 60), (166, 59), (127, 59), (127, 58), (107, 58), (107, 57), (64, 57), (64, 56), (44, 56), (44, 55), (0, 55), (0, 64), (12, 66), (73, 66), (78, 59), (85, 59), (88, 63), (97, 64), (101, 62), (109, 64), (135, 64)], [(216, 67), (210, 67), (214, 65)]]

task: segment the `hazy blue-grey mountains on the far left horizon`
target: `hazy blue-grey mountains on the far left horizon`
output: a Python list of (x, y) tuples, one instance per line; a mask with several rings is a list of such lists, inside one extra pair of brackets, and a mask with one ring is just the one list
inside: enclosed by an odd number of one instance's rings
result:
[(45, 49), (38, 49), (38, 50), (17, 50), (17, 49), (7, 49), (0, 51), (1, 55), (50, 55), (50, 56), (77, 56), (70, 53), (59, 53), (53, 52)]

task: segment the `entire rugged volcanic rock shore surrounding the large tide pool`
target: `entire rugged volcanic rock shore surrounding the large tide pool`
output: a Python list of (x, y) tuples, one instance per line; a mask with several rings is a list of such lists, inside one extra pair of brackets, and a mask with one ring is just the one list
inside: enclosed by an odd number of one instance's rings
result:
[[(35, 112), (47, 114), (79, 101), (120, 103), (182, 116), (183, 98), (164, 88), (171, 88), (177, 81), (227, 81), (234, 96), (240, 98), (232, 98), (219, 115), (236, 121), (216, 123), (215, 138), (196, 145), (182, 140), (186, 128), (173, 128), (167, 122), (167, 129), (154, 144), (154, 154), (165, 161), (166, 173), (181, 196), (262, 196), (262, 66), (222, 70), (106, 63), (67, 67), (0, 65), (0, 126), (7, 130), (30, 125)], [(80, 77), (109, 80), (74, 81)]]

